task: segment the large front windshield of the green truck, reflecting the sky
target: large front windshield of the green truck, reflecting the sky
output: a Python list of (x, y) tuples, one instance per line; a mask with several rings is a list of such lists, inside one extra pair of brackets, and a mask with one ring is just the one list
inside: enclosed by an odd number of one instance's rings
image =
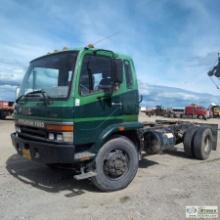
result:
[(19, 96), (43, 90), (50, 98), (66, 98), (77, 51), (66, 51), (33, 60), (25, 74)]

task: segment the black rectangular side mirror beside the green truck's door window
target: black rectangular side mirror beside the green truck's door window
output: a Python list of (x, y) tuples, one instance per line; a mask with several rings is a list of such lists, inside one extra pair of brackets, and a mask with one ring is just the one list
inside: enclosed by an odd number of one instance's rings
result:
[(112, 78), (114, 83), (121, 84), (123, 82), (122, 61), (119, 59), (112, 60)]

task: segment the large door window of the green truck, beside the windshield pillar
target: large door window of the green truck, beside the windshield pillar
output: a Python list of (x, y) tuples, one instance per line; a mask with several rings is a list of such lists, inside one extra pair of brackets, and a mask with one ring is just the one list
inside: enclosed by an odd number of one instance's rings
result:
[(80, 94), (89, 95), (101, 91), (100, 85), (112, 84), (111, 58), (86, 55), (80, 75)]

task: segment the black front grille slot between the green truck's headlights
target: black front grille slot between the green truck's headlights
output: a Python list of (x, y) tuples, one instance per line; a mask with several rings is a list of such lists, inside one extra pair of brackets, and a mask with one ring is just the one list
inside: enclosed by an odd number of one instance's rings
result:
[(26, 138), (47, 139), (47, 131), (43, 128), (35, 128), (30, 126), (20, 126), (21, 132), (19, 136)]

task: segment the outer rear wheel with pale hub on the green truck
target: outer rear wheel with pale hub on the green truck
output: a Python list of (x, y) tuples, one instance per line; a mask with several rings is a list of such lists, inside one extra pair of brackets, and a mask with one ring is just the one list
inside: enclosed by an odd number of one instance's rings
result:
[(213, 136), (209, 128), (199, 128), (194, 140), (193, 151), (197, 159), (206, 160), (212, 150)]

